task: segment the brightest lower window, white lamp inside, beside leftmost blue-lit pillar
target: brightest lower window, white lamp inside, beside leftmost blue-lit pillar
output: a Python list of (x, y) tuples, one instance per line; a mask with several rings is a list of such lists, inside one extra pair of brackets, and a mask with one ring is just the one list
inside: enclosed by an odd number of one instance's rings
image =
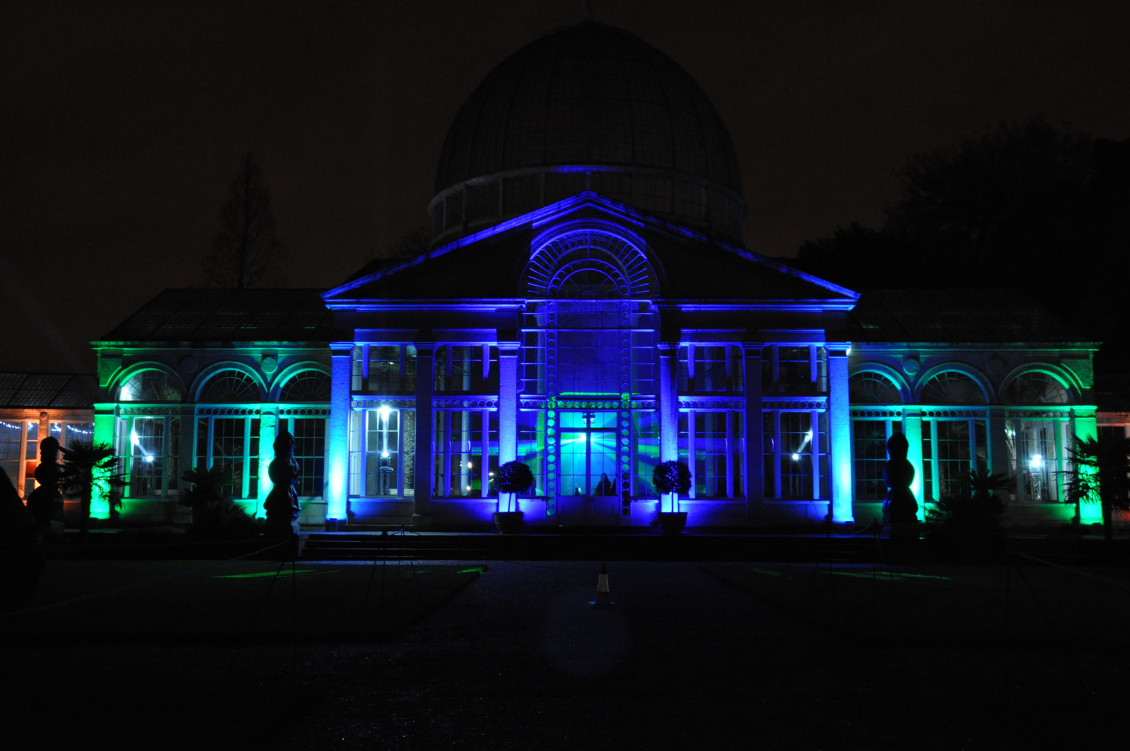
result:
[(380, 406), (349, 415), (349, 494), (416, 493), (416, 411)]

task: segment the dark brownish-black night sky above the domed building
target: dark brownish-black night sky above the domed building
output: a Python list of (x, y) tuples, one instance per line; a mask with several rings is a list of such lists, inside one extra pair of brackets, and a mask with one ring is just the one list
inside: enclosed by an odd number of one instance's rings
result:
[[(112, 7), (111, 7), (112, 6)], [(881, 221), (894, 170), (1002, 119), (1130, 137), (1130, 2), (594, 0), (728, 126), (746, 244)], [(581, 0), (0, 8), (0, 370), (92, 371), (87, 342), (202, 257), (259, 156), (287, 273), (331, 286), (425, 222), (444, 135)]]

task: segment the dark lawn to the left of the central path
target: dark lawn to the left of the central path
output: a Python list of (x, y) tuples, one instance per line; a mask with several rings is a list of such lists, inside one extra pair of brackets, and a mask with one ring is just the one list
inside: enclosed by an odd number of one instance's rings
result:
[[(224, 647), (389, 639), (484, 569), (381, 562), (233, 561), (201, 567), (188, 561), (50, 561), (31, 608), (0, 615), (0, 633), (25, 645)], [(145, 584), (154, 579), (159, 580)], [(93, 593), (106, 594), (84, 599)]]

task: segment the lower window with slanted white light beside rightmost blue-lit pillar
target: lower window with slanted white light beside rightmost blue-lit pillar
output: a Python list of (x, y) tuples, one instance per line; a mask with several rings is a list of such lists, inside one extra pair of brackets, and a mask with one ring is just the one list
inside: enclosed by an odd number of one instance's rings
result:
[(771, 409), (762, 415), (765, 497), (831, 498), (827, 413)]

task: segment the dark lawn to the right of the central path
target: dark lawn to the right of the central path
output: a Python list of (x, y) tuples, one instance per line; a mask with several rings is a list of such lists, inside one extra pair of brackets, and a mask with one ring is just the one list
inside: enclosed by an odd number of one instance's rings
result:
[(800, 623), (863, 644), (1103, 653), (1130, 618), (1121, 590), (1046, 567), (701, 568)]

